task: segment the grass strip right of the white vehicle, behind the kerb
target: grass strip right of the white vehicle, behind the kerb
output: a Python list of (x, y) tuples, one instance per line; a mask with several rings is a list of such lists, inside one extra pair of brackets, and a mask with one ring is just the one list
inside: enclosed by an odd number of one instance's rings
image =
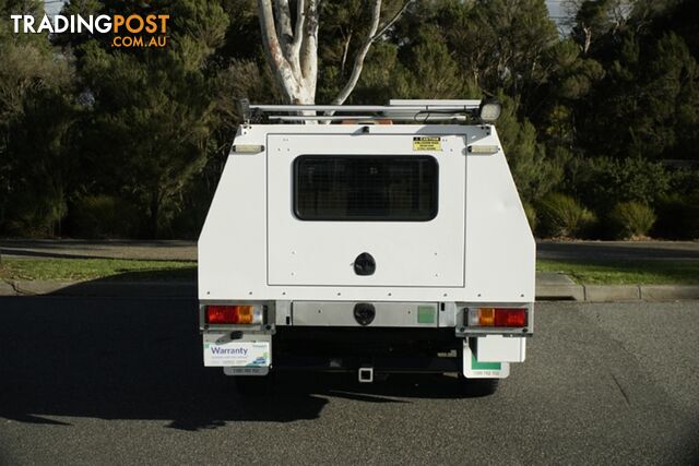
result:
[(699, 285), (699, 261), (537, 261), (536, 270), (587, 285)]

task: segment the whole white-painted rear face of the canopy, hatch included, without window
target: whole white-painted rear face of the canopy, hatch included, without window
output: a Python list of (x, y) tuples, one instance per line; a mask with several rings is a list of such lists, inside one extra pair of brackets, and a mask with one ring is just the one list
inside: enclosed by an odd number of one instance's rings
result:
[[(496, 131), (395, 124), (372, 126), (367, 135), (359, 134), (360, 128), (260, 124), (238, 130), (236, 144), (262, 144), (265, 151), (228, 157), (199, 239), (199, 298), (533, 302), (535, 243), (505, 154), (459, 154), (476, 142), (500, 146)], [(435, 155), (440, 206), (434, 223), (328, 225), (294, 218), (289, 164), (295, 155), (413, 154), (413, 135), (447, 139), (443, 154)], [(377, 251), (377, 273), (353, 276), (352, 261), (364, 250)], [(292, 251), (304, 260), (289, 259)], [(437, 252), (437, 259), (428, 252)]]

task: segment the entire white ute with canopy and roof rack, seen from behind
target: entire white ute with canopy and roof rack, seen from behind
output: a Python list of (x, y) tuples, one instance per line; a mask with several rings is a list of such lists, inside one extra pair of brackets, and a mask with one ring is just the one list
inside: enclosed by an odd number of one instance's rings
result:
[(499, 111), (242, 100), (199, 239), (204, 365), (252, 393), (281, 370), (458, 373), (491, 393), (534, 328)]

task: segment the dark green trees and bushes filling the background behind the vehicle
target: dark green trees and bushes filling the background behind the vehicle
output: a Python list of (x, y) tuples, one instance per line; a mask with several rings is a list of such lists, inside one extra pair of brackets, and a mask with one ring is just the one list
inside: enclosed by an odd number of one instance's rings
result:
[[(534, 227), (588, 234), (591, 214), (576, 199), (624, 225), (638, 224), (621, 217), (640, 203), (657, 214), (651, 234), (699, 236), (699, 175), (661, 164), (699, 160), (699, 3), (577, 3), (561, 37), (544, 0), (413, 2), (371, 46), (347, 103), (497, 97), (497, 131)], [(384, 0), (382, 24), (402, 5)], [(146, 50), (112, 48), (108, 35), (15, 35), (10, 14), (40, 14), (42, 2), (0, 0), (0, 232), (196, 237), (239, 123), (236, 98), (281, 101), (257, 8), (64, 5), (170, 14), (168, 48)], [(320, 9), (322, 104), (351, 74), (369, 9), (362, 0)], [(130, 212), (125, 225), (116, 212)]]

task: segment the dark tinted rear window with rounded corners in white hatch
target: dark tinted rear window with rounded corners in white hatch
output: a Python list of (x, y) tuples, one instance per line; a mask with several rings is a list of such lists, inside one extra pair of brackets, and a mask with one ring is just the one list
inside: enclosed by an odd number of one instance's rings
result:
[(431, 220), (438, 172), (430, 156), (303, 155), (294, 211), (301, 220)]

